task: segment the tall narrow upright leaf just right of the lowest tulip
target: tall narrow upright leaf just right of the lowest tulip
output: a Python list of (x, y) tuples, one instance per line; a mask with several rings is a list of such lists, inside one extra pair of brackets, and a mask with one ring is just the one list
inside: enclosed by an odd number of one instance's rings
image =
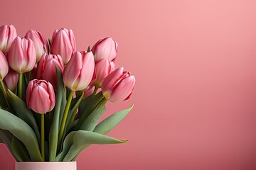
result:
[[(60, 69), (56, 67), (57, 72), (57, 94), (56, 94), (56, 102), (55, 102), (55, 108), (54, 108), (54, 115), (53, 115), (53, 123), (50, 127), (49, 132), (49, 161), (54, 162), (56, 153), (57, 153), (57, 145), (58, 145), (58, 132), (59, 132), (59, 126), (60, 126), (60, 108), (62, 106), (63, 101), (63, 94), (64, 91), (64, 84), (63, 84), (63, 78), (60, 73)], [(63, 107), (63, 106), (62, 106)]]

